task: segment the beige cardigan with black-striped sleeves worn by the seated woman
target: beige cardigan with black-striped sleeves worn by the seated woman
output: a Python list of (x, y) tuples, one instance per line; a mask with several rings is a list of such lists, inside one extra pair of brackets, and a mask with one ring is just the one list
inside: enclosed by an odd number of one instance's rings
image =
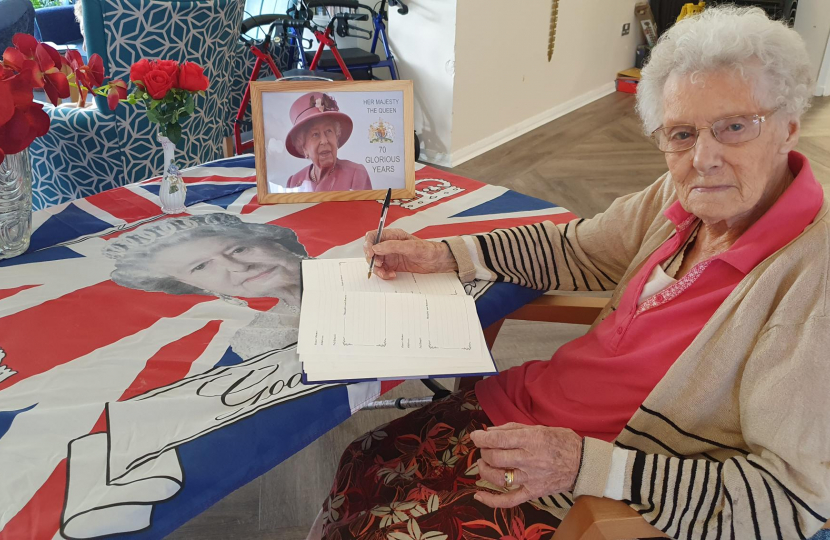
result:
[[(593, 219), (447, 240), (463, 281), (614, 290), (674, 225), (668, 174)], [(573, 497), (625, 501), (674, 538), (809, 538), (830, 516), (830, 218), (734, 289), (613, 443), (586, 438)], [(595, 323), (596, 324), (596, 323)]]

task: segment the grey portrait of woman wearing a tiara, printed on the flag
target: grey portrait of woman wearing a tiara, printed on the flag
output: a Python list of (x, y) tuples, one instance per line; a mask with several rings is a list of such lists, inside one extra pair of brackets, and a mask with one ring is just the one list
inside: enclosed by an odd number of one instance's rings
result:
[(123, 287), (216, 296), (235, 305), (279, 299), (231, 338), (243, 359), (297, 342), (300, 263), (307, 254), (290, 229), (222, 213), (175, 217), (126, 232), (103, 252), (115, 260), (111, 277)]

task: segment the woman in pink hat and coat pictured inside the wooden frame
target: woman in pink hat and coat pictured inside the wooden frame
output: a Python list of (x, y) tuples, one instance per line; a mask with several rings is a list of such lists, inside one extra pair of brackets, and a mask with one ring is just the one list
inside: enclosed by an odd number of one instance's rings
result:
[(287, 188), (302, 192), (372, 189), (363, 165), (337, 158), (337, 150), (352, 134), (352, 119), (340, 112), (334, 98), (322, 92), (305, 94), (294, 102), (289, 115), (293, 127), (285, 148), (311, 165), (292, 175)]

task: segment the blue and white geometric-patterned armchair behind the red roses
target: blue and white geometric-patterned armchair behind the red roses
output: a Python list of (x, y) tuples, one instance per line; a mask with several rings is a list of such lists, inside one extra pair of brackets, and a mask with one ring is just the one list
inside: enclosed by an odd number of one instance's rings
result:
[[(183, 122), (176, 150), (180, 167), (222, 157), (230, 135), (234, 57), (242, 21), (241, 0), (84, 0), (89, 54), (98, 53), (113, 79), (129, 80), (130, 66), (142, 58), (196, 62), (205, 68), (210, 89), (196, 98), (196, 113)], [(162, 152), (142, 106), (122, 104), (109, 111), (49, 105), (49, 133), (30, 147), (36, 209), (86, 197), (105, 189), (161, 174)]]

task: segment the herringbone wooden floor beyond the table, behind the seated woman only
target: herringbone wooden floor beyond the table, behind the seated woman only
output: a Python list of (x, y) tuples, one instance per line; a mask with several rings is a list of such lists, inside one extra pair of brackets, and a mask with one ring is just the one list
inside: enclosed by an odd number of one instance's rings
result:
[[(611, 94), (452, 172), (592, 217), (666, 171), (663, 153), (642, 134), (633, 104), (629, 94)], [(830, 187), (829, 97), (816, 98), (807, 111), (797, 149)]]

